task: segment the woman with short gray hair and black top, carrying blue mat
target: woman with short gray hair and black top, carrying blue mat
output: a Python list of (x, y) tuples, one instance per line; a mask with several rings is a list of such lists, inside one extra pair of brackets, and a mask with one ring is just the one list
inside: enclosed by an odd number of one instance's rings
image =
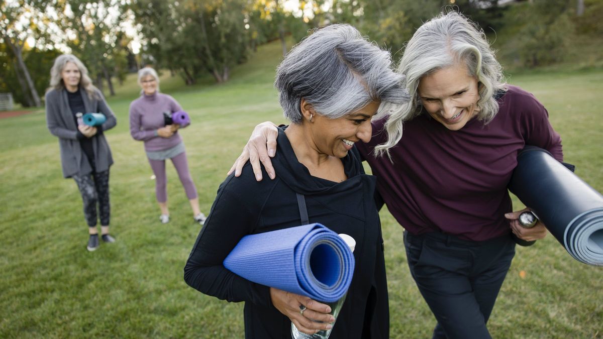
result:
[[(305, 198), (309, 223), (356, 239), (352, 284), (331, 338), (387, 338), (389, 311), (375, 180), (364, 174), (355, 142), (371, 137), (381, 102), (403, 103), (403, 77), (382, 51), (349, 25), (315, 31), (295, 46), (277, 70), (283, 113), (292, 124), (279, 131), (277, 179), (257, 182), (251, 166), (218, 189), (205, 226), (185, 267), (191, 287), (229, 302), (245, 302), (246, 338), (291, 338), (291, 322), (308, 334), (327, 329), (327, 305), (255, 284), (223, 266), (245, 235), (302, 224), (296, 194)], [(300, 314), (300, 306), (306, 311)], [(312, 322), (310, 319), (326, 323)]]

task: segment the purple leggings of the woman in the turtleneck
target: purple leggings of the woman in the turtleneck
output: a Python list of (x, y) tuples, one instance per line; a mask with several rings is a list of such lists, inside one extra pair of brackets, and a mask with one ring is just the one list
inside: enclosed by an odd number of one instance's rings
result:
[[(155, 194), (157, 196), (157, 201), (165, 203), (168, 201), (168, 177), (165, 175), (165, 160), (148, 160), (151, 164), (151, 169), (155, 174)], [(186, 153), (182, 152), (177, 156), (172, 157), (171, 160), (178, 172), (180, 182), (182, 182), (182, 186), (185, 188), (186, 197), (188, 197), (189, 200), (197, 198), (197, 188), (195, 188), (195, 183), (192, 182), (191, 173), (189, 173), (188, 170)]]

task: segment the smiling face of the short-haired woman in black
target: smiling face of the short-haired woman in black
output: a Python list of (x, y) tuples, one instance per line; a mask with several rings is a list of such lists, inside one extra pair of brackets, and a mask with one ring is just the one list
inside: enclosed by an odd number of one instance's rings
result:
[(373, 133), (371, 118), (377, 113), (379, 105), (378, 101), (373, 101), (336, 119), (315, 114), (312, 119), (312, 138), (318, 151), (342, 158), (352, 149), (355, 142), (369, 142)]

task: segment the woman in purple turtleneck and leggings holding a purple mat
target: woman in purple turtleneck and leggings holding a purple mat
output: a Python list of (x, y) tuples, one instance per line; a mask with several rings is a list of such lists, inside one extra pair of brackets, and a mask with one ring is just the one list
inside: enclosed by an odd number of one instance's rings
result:
[(169, 222), (167, 177), (165, 160), (171, 159), (189, 198), (194, 219), (203, 225), (205, 215), (199, 209), (197, 189), (192, 182), (186, 160), (185, 145), (178, 134), (178, 124), (165, 125), (163, 112), (182, 110), (180, 104), (167, 94), (159, 93), (159, 77), (153, 68), (138, 71), (138, 84), (142, 87), (140, 98), (130, 104), (130, 135), (144, 141), (147, 158), (155, 174), (155, 193), (161, 215), (159, 220)]

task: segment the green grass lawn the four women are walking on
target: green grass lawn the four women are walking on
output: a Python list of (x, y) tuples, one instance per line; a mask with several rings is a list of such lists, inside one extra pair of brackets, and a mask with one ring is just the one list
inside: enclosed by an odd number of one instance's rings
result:
[[(162, 91), (191, 115), (182, 130), (205, 212), (257, 122), (284, 122), (272, 81), (280, 45), (262, 46), (216, 85), (183, 86), (169, 72)], [(514, 74), (533, 92), (563, 137), (566, 160), (603, 191), (603, 71)], [(168, 166), (172, 221), (160, 224), (142, 142), (128, 133), (135, 77), (109, 104), (118, 125), (107, 131), (115, 244), (86, 251), (87, 231), (73, 180), (62, 178), (57, 139), (43, 110), (0, 120), (0, 337), (242, 338), (242, 303), (204, 296), (183, 281), (200, 226)], [(519, 203), (517, 203), (519, 207)], [(428, 338), (435, 324), (412, 281), (402, 227), (384, 209), (392, 338)], [(525, 274), (520, 274), (520, 272)], [(549, 235), (518, 248), (489, 328), (495, 338), (600, 338), (603, 269), (575, 261)]]

